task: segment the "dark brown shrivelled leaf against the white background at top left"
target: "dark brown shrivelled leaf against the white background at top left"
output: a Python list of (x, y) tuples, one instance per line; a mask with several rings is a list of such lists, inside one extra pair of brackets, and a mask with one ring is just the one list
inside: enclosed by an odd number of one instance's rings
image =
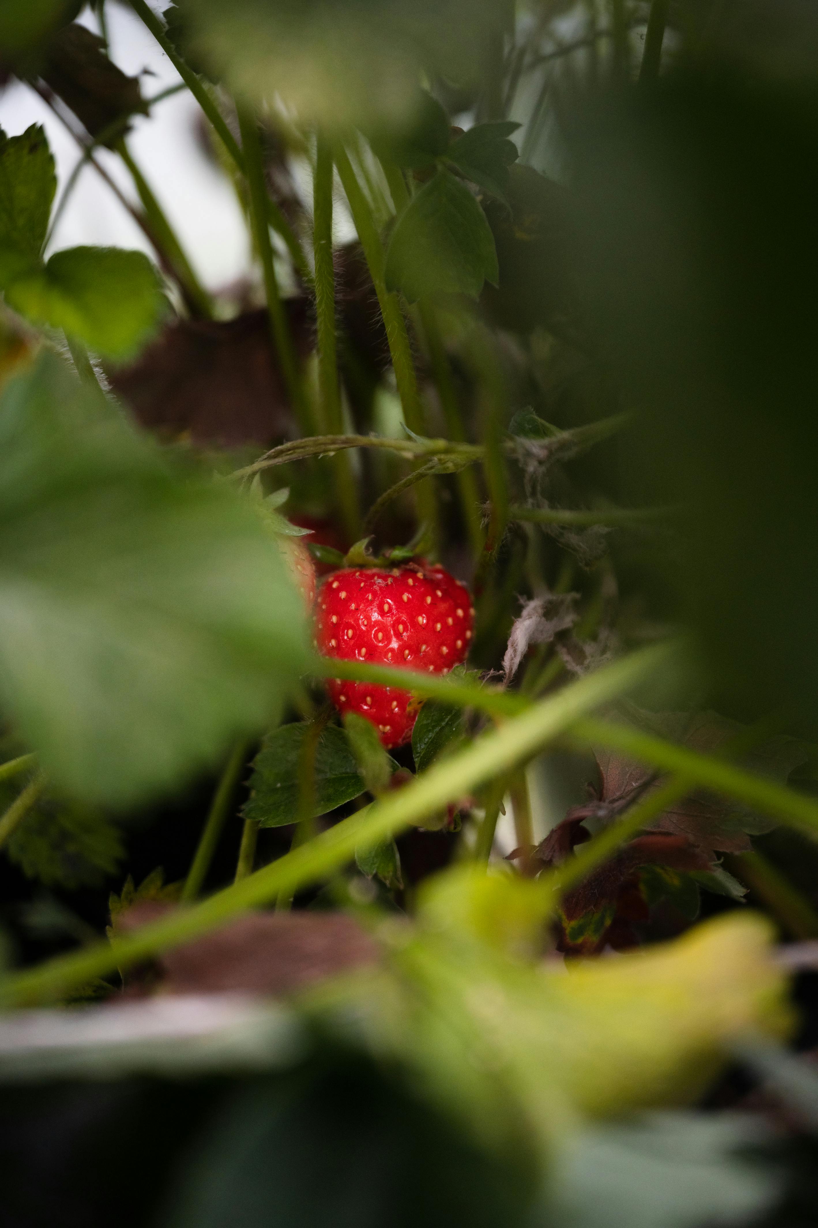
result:
[(52, 38), (39, 75), (91, 136), (114, 128), (103, 141), (113, 149), (128, 131), (128, 117), (147, 115), (139, 77), (126, 76), (108, 59), (98, 34), (72, 22)]

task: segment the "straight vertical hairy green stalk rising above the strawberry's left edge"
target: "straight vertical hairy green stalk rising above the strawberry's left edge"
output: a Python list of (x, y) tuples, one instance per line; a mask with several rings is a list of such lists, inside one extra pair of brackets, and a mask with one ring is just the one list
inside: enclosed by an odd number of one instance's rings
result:
[[(313, 221), (315, 251), (315, 317), (318, 325), (318, 383), (321, 398), (321, 429), (341, 435), (343, 413), (338, 383), (335, 322), (335, 265), (332, 263), (332, 151), (320, 133), (315, 142), (313, 181)], [(361, 508), (350, 457), (332, 457), (332, 474), (338, 508), (350, 542), (361, 538)]]

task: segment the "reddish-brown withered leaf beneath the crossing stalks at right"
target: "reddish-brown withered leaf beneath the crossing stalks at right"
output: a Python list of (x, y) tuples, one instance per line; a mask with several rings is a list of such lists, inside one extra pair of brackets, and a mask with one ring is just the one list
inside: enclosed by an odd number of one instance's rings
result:
[[(733, 738), (747, 732), (746, 726), (717, 712), (646, 712), (635, 705), (628, 705), (627, 711), (630, 723), (638, 728), (703, 754), (726, 752)], [(610, 807), (611, 818), (638, 796), (657, 787), (651, 770), (643, 764), (601, 747), (595, 748), (595, 754), (602, 772), (601, 799)], [(813, 754), (814, 748), (808, 743), (776, 734), (732, 761), (785, 783), (790, 772)], [(649, 830), (684, 835), (699, 849), (713, 853), (743, 852), (751, 847), (751, 835), (762, 835), (775, 826), (778, 822), (766, 814), (728, 798), (697, 791), (663, 812)]]

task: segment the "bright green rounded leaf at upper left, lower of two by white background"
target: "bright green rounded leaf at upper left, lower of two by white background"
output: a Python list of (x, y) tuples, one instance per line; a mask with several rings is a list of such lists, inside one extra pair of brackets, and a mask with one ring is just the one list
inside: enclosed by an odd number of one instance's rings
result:
[(63, 328), (104, 357), (132, 357), (167, 312), (156, 269), (142, 252), (72, 247), (6, 285), (6, 301), (34, 324)]

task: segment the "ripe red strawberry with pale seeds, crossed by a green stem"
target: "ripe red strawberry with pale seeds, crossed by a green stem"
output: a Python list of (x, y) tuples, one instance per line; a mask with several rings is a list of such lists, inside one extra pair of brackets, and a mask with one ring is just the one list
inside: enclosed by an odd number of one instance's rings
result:
[[(446, 674), (466, 659), (475, 610), (467, 588), (424, 564), (335, 571), (319, 589), (315, 615), (315, 643), (325, 657)], [(327, 690), (340, 712), (372, 721), (385, 747), (412, 737), (419, 704), (410, 691), (337, 679)]]

